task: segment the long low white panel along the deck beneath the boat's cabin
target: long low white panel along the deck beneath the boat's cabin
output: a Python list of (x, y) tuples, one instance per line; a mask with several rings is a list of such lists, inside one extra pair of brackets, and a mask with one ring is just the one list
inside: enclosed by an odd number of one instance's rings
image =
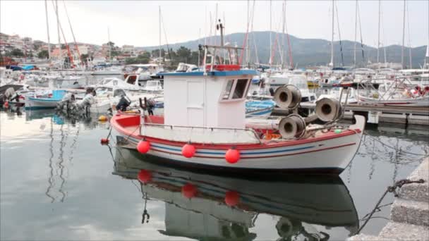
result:
[[(234, 135), (231, 135), (232, 134)], [(140, 135), (173, 142), (201, 144), (260, 144), (258, 133), (248, 128), (208, 128), (198, 126), (140, 124)]]

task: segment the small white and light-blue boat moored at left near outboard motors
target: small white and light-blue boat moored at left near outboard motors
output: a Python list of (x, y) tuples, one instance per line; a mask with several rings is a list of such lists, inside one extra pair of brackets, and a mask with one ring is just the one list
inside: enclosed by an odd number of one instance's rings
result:
[(25, 109), (54, 109), (62, 101), (66, 90), (54, 89), (52, 93), (25, 97)]

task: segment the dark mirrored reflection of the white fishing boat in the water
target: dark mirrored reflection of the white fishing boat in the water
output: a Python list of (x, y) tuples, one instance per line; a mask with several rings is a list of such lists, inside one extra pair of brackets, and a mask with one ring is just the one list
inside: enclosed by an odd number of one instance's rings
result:
[[(141, 156), (141, 155), (140, 155)], [(344, 227), (352, 235), (358, 216), (349, 190), (338, 176), (291, 176), (253, 180), (185, 171), (155, 164), (159, 158), (116, 148), (114, 175), (140, 181), (143, 201), (165, 202), (165, 230), (176, 237), (253, 240), (259, 214), (278, 216), (278, 240), (329, 240), (318, 231)], [(142, 223), (150, 220), (143, 211)]]

